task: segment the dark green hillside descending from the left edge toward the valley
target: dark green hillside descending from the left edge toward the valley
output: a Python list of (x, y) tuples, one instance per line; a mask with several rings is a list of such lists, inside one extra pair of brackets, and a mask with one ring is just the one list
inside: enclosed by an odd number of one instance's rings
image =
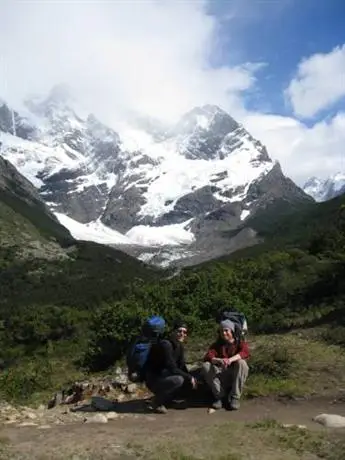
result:
[(162, 273), (108, 246), (75, 241), (32, 185), (8, 170), (0, 183), (0, 364), (50, 340), (82, 343), (90, 311)]

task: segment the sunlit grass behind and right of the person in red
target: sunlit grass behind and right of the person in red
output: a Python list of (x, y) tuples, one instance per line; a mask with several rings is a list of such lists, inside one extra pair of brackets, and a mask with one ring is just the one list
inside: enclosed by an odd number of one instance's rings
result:
[[(243, 397), (332, 395), (345, 386), (345, 350), (327, 343), (327, 328), (248, 338), (250, 373)], [(328, 332), (329, 333), (329, 332)], [(187, 345), (188, 362), (201, 362), (215, 335)]]

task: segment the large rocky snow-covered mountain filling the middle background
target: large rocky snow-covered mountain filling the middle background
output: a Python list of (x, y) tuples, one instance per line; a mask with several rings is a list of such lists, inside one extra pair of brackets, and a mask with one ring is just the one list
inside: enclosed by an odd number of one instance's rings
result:
[(212, 105), (174, 126), (138, 118), (115, 129), (59, 86), (27, 100), (20, 113), (3, 104), (0, 142), (1, 154), (73, 236), (132, 247), (146, 260), (157, 257), (152, 247), (169, 260), (231, 252), (255, 232), (231, 239), (224, 232), (275, 200), (310, 199), (258, 140)]

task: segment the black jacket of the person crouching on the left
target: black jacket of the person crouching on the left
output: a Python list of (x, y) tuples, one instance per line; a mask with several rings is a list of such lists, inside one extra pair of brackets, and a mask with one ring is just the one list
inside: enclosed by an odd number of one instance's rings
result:
[(157, 376), (163, 371), (168, 371), (171, 375), (181, 375), (187, 380), (192, 379), (186, 366), (184, 347), (172, 337), (152, 345), (146, 370)]

